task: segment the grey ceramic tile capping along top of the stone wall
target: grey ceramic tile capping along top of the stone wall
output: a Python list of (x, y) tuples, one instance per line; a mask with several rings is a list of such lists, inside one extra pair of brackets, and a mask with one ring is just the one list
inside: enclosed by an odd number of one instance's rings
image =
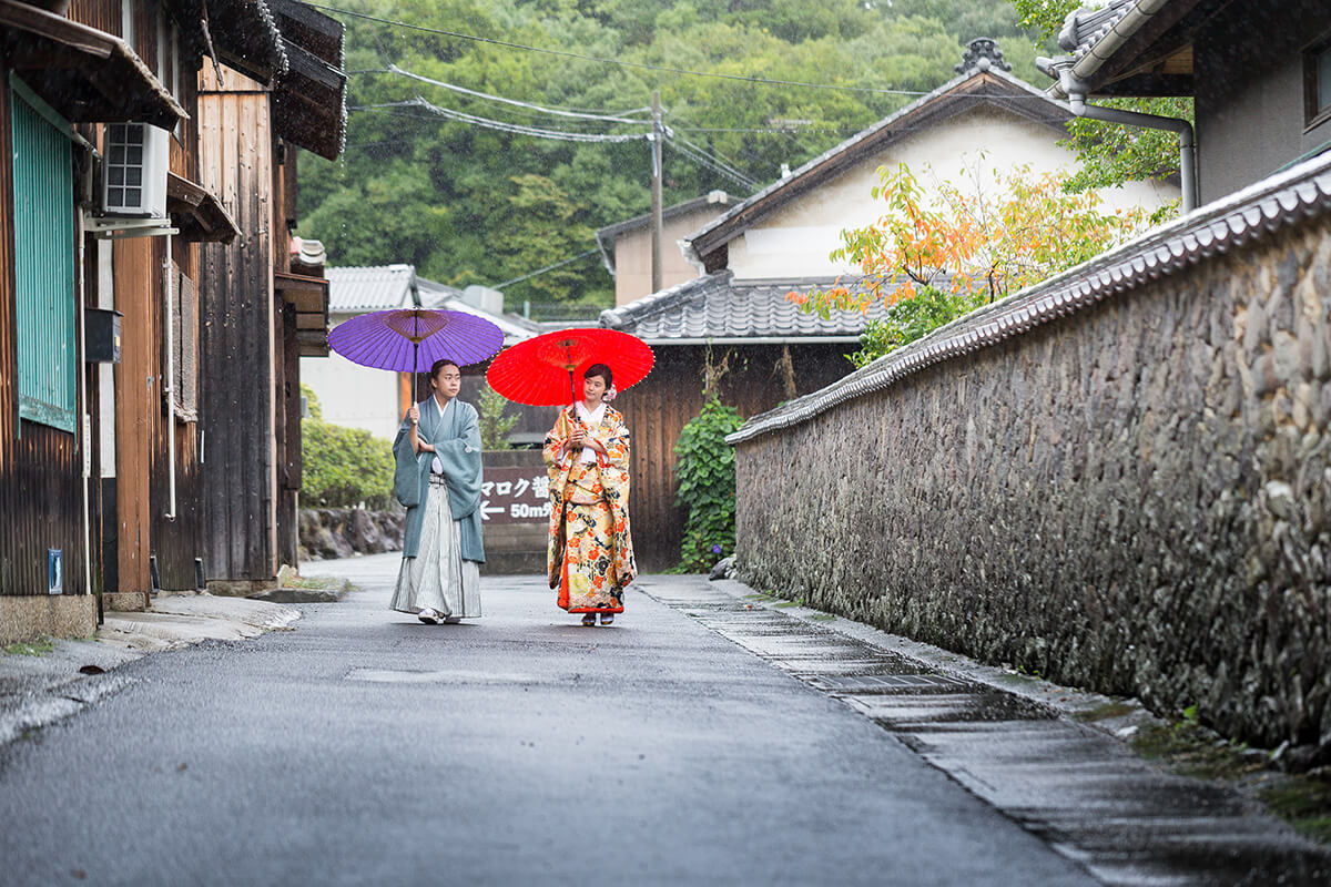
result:
[(733, 445), (808, 422), (925, 367), (997, 344), (1202, 258), (1227, 253), (1298, 219), (1327, 213), (1331, 213), (1331, 156), (1312, 158), (1250, 185), (1110, 253), (958, 318), (840, 382), (753, 416), (725, 442)]

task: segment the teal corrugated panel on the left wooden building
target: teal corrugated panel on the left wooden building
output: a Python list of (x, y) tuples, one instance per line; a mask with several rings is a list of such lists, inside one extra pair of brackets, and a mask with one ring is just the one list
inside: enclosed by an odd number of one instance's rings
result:
[(75, 430), (75, 198), (69, 138), (11, 92), (19, 415)]

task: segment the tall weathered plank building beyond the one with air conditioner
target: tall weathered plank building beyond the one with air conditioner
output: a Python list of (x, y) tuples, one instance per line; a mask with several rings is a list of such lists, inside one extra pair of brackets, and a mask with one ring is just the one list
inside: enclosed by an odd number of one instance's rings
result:
[(202, 259), (206, 580), (238, 594), (297, 560), (299, 358), (327, 355), (329, 313), (327, 281), (291, 263), (297, 149), (333, 160), (346, 132), (342, 25), (294, 0), (272, 13), (280, 70), (229, 64), (200, 80), (201, 178), (248, 231)]

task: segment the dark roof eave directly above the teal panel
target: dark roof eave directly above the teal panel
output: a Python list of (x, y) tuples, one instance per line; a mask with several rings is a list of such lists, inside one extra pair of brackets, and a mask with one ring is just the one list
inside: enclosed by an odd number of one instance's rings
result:
[(0, 49), (9, 69), (71, 122), (170, 129), (189, 117), (124, 40), (64, 16), (0, 0)]

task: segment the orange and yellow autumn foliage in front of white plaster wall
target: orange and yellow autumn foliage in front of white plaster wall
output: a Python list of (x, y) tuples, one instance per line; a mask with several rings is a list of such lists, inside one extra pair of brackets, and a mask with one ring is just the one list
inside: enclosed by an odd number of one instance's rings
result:
[(865, 311), (892, 306), (936, 286), (977, 302), (1016, 293), (1113, 249), (1146, 226), (1146, 213), (1103, 211), (1094, 191), (1063, 190), (1065, 177), (1029, 166), (989, 173), (990, 191), (976, 168), (966, 188), (940, 181), (926, 191), (910, 169), (878, 169), (873, 198), (888, 211), (866, 227), (841, 231), (831, 258), (860, 267), (853, 290), (833, 286), (788, 293), (805, 311)]

